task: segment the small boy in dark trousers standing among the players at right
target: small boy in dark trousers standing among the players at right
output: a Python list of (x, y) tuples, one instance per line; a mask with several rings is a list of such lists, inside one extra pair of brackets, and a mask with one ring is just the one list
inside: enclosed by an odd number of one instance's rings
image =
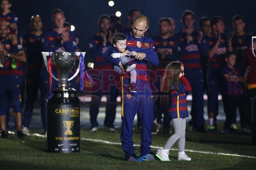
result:
[(230, 130), (233, 130), (230, 129), (230, 126), (233, 123), (234, 117), (236, 118), (237, 107), (239, 108), (241, 130), (249, 132), (246, 121), (245, 98), (241, 84), (245, 82), (249, 69), (247, 69), (244, 75), (241, 75), (240, 70), (235, 66), (236, 56), (233, 52), (227, 51), (225, 61), (227, 65), (221, 71), (221, 75), (224, 76), (223, 95), (225, 95), (224, 105), (226, 115), (222, 132), (228, 133)]

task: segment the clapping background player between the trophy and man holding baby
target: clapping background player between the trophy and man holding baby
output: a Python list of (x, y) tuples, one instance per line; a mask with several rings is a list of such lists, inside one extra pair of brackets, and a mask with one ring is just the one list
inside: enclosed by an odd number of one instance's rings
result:
[[(97, 122), (97, 116), (99, 114), (100, 102), (103, 94), (108, 95), (106, 105), (106, 117), (104, 125), (109, 132), (116, 132), (114, 129), (114, 120), (116, 117), (116, 98), (118, 97), (119, 90), (116, 84), (119, 80), (119, 73), (115, 72), (112, 68), (111, 63), (102, 58), (103, 53), (107, 47), (111, 45), (112, 32), (109, 30), (110, 17), (109, 15), (101, 15), (99, 18), (100, 32), (97, 32), (89, 40), (89, 48), (94, 58), (94, 67), (90, 72), (92, 78), (99, 78), (95, 81), (95, 86), (92, 88), (92, 104), (90, 105), (90, 123), (91, 133), (96, 133), (99, 123)], [(110, 84), (109, 75), (103, 75), (109, 73), (114, 77), (114, 84)], [(97, 75), (97, 76), (96, 76)]]

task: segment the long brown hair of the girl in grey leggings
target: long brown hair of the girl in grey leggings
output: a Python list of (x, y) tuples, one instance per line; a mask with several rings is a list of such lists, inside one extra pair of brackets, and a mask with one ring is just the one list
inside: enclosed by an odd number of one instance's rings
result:
[(166, 66), (164, 76), (162, 79), (162, 91), (172, 91), (174, 89), (174, 84), (176, 84), (176, 88), (178, 89), (178, 85), (180, 83), (180, 73), (182, 73), (180, 61), (173, 61)]

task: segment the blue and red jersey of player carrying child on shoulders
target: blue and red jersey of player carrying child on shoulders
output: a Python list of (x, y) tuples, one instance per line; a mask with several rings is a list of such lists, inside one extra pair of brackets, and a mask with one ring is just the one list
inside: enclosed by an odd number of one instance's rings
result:
[[(3, 48), (8, 52), (8, 53), (18, 53), (18, 48), (17, 44), (12, 45), (10, 39), (6, 37), (3, 41), (1, 41)], [(5, 61), (3, 63), (3, 68), (0, 68), (0, 74), (1, 75), (17, 75), (17, 69), (11, 68), (11, 58), (10, 57), (5, 57)]]

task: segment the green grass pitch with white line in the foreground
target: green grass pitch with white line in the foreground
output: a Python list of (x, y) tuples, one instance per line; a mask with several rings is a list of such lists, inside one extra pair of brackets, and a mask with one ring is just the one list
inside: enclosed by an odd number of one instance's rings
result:
[[(106, 133), (103, 130), (97, 134), (89, 133), (89, 129), (81, 130), (81, 152), (71, 154), (57, 154), (46, 152), (46, 138), (38, 136), (25, 136), (17, 139), (9, 135), (7, 139), (0, 139), (0, 170), (87, 170), (87, 169), (179, 169), (179, 170), (206, 170), (206, 169), (256, 169), (256, 146), (251, 146), (251, 137), (246, 134), (221, 134), (220, 132), (200, 134), (187, 131), (186, 151), (192, 161), (177, 161), (177, 150), (170, 151), (170, 162), (146, 161), (125, 162), (118, 133)], [(38, 130), (32, 133), (39, 133)], [(163, 146), (169, 138), (168, 134), (153, 136), (152, 146)], [(85, 139), (86, 138), (86, 139)], [(92, 139), (102, 139), (116, 142), (107, 144)], [(140, 134), (134, 133), (134, 143), (140, 143)], [(173, 146), (177, 149), (177, 145)], [(140, 148), (135, 146), (139, 155)], [(208, 151), (213, 153), (197, 153), (194, 151)], [(157, 148), (152, 148), (156, 153)], [(232, 155), (219, 155), (228, 153), (247, 155), (254, 158)]]

